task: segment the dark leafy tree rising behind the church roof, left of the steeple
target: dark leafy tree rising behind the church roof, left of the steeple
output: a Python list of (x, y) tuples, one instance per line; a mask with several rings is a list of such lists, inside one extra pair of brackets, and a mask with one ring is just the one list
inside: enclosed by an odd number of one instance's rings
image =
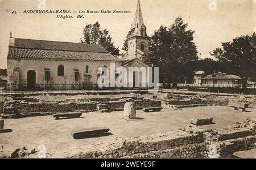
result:
[(112, 55), (119, 56), (119, 49), (114, 46), (108, 30), (101, 30), (100, 23), (87, 24), (84, 28), (84, 38), (81, 43), (101, 44)]

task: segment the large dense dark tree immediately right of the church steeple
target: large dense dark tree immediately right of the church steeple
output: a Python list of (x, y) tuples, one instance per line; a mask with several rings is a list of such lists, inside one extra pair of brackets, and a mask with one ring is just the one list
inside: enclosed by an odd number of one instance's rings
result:
[(188, 63), (198, 59), (193, 43), (193, 33), (187, 30), (187, 23), (179, 16), (170, 28), (160, 26), (152, 35), (150, 58), (154, 67), (159, 67), (159, 80), (167, 83), (184, 81), (192, 70)]

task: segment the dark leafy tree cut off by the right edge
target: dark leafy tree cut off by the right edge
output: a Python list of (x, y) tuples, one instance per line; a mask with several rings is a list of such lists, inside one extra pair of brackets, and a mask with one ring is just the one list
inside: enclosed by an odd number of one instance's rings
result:
[(256, 80), (256, 34), (240, 36), (232, 42), (221, 43), (222, 48), (216, 48), (211, 55), (222, 64), (226, 73), (236, 74), (242, 78), (243, 88), (247, 80)]

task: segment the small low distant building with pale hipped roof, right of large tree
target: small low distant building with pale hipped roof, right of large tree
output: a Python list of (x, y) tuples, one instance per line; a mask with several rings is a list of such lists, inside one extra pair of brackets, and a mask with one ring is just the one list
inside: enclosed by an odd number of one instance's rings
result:
[(231, 86), (240, 87), (242, 78), (232, 74), (213, 73), (201, 78), (202, 84), (206, 86)]

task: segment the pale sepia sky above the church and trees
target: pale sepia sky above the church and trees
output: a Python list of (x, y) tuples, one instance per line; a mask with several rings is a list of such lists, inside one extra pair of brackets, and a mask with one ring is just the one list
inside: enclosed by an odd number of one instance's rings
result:
[[(46, 2), (47, 10), (130, 10), (127, 14), (85, 14), (85, 18), (59, 19), (56, 14), (22, 14), (38, 10)], [(195, 31), (199, 57), (221, 47), (221, 42), (256, 32), (256, 0), (141, 0), (147, 34), (161, 25), (170, 26), (181, 16)], [(0, 0), (0, 68), (6, 68), (10, 32), (14, 38), (80, 42), (86, 24), (99, 22), (109, 30), (114, 45), (122, 48), (133, 23), (137, 0)], [(16, 11), (18, 14), (13, 15)]]

